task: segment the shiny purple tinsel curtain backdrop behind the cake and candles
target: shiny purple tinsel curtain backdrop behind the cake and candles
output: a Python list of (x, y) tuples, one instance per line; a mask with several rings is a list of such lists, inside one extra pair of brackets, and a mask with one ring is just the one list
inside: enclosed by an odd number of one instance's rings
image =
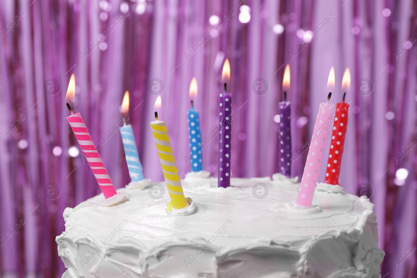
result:
[[(61, 277), (55, 236), (65, 229), (63, 210), (100, 193), (83, 154), (69, 152), (79, 150), (65, 120), (71, 73), (75, 111), (95, 143), (103, 143), (99, 153), (120, 188), (129, 181), (123, 145), (119, 132), (108, 132), (120, 121), (125, 90), (145, 178), (163, 179), (149, 127), (157, 94), (184, 176), (191, 78), (208, 136), (218, 127), (221, 66), (229, 58), (233, 177), (278, 172), (274, 115), (286, 63), (296, 152), (310, 142), (330, 68), (335, 104), (349, 67), (339, 181), (376, 204), (379, 246), (387, 253), (382, 277), (416, 277), (417, 252), (404, 255), (417, 247), (416, 10), (416, 0), (0, 1), (1, 238), (24, 223), (0, 248), (0, 276)], [(253, 89), (259, 78), (261, 92)], [(154, 81), (161, 91), (149, 89)], [(306, 154), (294, 160), (294, 176), (302, 174)], [(214, 176), (217, 158), (215, 138), (203, 150), (203, 168)], [(324, 173), (322, 167), (319, 181)]]

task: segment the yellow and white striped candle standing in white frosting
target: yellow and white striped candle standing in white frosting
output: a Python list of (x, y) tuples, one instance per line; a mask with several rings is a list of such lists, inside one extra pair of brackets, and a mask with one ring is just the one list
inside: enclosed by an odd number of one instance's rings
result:
[(172, 208), (185, 208), (187, 203), (191, 203), (191, 199), (184, 197), (166, 124), (165, 122), (158, 120), (157, 114), (155, 118), (156, 120), (151, 122), (151, 128), (153, 139), (156, 143), (156, 149), (158, 150), (159, 160), (161, 161), (163, 176), (168, 188), (169, 197), (171, 198), (171, 202), (168, 203), (168, 210), (172, 211)]

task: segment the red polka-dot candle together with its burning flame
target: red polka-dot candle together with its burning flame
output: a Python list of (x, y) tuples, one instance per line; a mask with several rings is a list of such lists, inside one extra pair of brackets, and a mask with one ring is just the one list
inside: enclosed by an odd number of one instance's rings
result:
[[(350, 73), (347, 68), (343, 75), (342, 90), (349, 90)], [(349, 112), (349, 104), (344, 102), (344, 97), (341, 103), (336, 105), (336, 115), (334, 117), (334, 125), (332, 131), (332, 143), (329, 150), (329, 160), (327, 161), (325, 183), (339, 184), (340, 164), (342, 163), (342, 153), (344, 147), (344, 138), (347, 129), (347, 114)]]

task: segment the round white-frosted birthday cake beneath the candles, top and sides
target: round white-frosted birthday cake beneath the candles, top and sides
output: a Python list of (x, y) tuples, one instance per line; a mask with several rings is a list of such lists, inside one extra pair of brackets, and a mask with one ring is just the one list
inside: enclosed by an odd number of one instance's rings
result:
[(117, 206), (101, 206), (98, 195), (66, 208), (56, 238), (63, 278), (379, 275), (384, 251), (367, 199), (316, 189), (312, 205), (322, 211), (313, 213), (288, 207), (300, 186), (289, 180), (231, 178), (229, 188), (217, 188), (217, 178), (181, 182), (197, 203), (191, 215), (168, 214), (167, 191), (155, 199), (119, 189), (129, 199)]

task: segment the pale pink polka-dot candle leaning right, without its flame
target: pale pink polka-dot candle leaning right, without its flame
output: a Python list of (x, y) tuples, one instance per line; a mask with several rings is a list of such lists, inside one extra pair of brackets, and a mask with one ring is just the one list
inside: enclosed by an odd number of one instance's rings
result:
[[(328, 100), (330, 100), (331, 95), (332, 93), (329, 93)], [(322, 165), (324, 148), (326, 147), (327, 137), (332, 126), (333, 108), (334, 105), (329, 104), (329, 101), (327, 103), (320, 103), (319, 113), (317, 114), (313, 135), (311, 136), (306, 167), (304, 167), (296, 201), (298, 205), (303, 207), (310, 207), (311, 201), (313, 200), (317, 178), (319, 178), (320, 166)]]

